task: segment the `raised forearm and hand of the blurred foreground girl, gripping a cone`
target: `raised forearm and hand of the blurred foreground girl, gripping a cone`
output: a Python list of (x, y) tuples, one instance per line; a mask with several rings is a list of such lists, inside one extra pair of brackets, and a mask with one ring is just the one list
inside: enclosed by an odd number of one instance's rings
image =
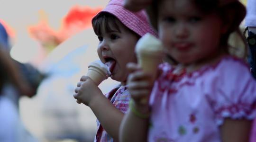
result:
[[(135, 63), (128, 63), (127, 68), (131, 72), (128, 76), (128, 89), (131, 98), (134, 100), (134, 108), (142, 114), (148, 114), (150, 113), (148, 103), (141, 104), (140, 102), (141, 99), (148, 97), (151, 92), (150, 75), (141, 71), (141, 68)], [(148, 121), (148, 118), (140, 118), (128, 110), (120, 126), (119, 141), (146, 142)]]

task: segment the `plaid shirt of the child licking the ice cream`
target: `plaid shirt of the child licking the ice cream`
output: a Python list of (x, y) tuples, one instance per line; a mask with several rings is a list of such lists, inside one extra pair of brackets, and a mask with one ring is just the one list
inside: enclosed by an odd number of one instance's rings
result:
[[(125, 86), (117, 87), (112, 89), (108, 94), (105, 95), (110, 99), (110, 102), (118, 108), (124, 114), (128, 110), (128, 104), (130, 100), (130, 94)], [(94, 142), (118, 142), (118, 140), (113, 140), (113, 138), (104, 130), (101, 123), (97, 119), (97, 133)]]

